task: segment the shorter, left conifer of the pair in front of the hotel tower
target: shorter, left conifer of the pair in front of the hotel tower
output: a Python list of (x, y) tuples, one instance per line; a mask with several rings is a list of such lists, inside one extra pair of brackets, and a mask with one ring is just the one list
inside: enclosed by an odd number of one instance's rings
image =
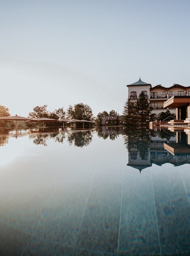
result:
[(128, 98), (123, 107), (123, 121), (126, 125), (128, 124), (135, 124), (136, 123), (136, 113), (135, 113), (135, 106), (131, 102), (131, 99)]

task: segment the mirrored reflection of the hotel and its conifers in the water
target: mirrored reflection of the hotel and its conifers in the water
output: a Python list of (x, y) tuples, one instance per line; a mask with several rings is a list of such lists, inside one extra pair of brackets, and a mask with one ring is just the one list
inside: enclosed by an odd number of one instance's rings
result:
[(129, 163), (141, 173), (155, 165), (171, 163), (174, 166), (190, 163), (190, 131), (170, 130), (126, 131), (125, 145), (129, 152)]

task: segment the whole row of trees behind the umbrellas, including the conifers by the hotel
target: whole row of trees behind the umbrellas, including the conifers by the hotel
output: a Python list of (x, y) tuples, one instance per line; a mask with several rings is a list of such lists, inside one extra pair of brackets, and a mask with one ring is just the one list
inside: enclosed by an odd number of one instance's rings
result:
[[(167, 117), (170, 119), (175, 119), (175, 115), (171, 114), (169, 110), (166, 112), (161, 112), (157, 117), (155, 114), (151, 114), (152, 107), (148, 102), (147, 95), (144, 92), (139, 94), (136, 104), (133, 104), (130, 98), (124, 104), (122, 116), (119, 116), (117, 111), (113, 109), (110, 112), (103, 111), (97, 114), (97, 117), (93, 116), (92, 108), (83, 103), (75, 104), (74, 106), (69, 105), (67, 111), (64, 108), (57, 108), (53, 112), (47, 110), (47, 105), (36, 106), (33, 111), (28, 114), (29, 118), (50, 118), (50, 119), (78, 119), (86, 121), (95, 121), (97, 126), (102, 125), (103, 119), (106, 117), (116, 117), (115, 119), (108, 118), (108, 126), (118, 126), (120, 125), (120, 119), (123, 121), (123, 125), (133, 125), (133, 126), (145, 126), (149, 121), (154, 120), (164, 120)], [(10, 116), (9, 109), (6, 106), (0, 106), (0, 117)], [(119, 119), (120, 117), (120, 119)], [(40, 122), (27, 122), (28, 127), (41, 126)], [(80, 126), (81, 124), (77, 124)], [(85, 124), (87, 125), (87, 124)], [(14, 127), (13, 121), (0, 121), (0, 127)], [(60, 122), (49, 122), (48, 126), (61, 126)]]

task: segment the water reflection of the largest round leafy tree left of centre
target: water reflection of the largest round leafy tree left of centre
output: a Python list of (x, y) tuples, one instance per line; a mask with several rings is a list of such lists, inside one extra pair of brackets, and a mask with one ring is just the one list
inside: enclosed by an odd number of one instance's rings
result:
[(84, 132), (70, 132), (68, 133), (68, 142), (69, 145), (74, 145), (76, 147), (84, 147), (91, 143), (92, 141), (92, 132), (91, 130), (84, 131)]

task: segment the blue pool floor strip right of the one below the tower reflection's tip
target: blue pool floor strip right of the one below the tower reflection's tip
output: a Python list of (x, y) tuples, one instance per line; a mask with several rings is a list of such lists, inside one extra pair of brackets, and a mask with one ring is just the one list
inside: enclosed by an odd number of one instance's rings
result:
[(152, 171), (158, 230), (163, 254), (190, 251), (190, 204), (180, 171)]

